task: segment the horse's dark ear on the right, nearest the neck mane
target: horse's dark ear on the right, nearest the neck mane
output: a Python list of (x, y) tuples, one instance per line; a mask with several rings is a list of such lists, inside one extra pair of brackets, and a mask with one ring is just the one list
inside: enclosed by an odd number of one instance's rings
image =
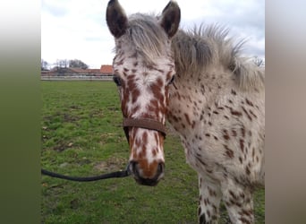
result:
[(166, 31), (169, 38), (172, 38), (176, 33), (181, 21), (181, 10), (175, 1), (170, 1), (160, 18), (160, 25)]

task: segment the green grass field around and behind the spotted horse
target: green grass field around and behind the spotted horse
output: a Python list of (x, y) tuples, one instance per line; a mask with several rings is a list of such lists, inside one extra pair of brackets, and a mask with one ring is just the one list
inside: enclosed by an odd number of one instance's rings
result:
[[(72, 176), (125, 168), (129, 150), (113, 82), (41, 82), (41, 91), (42, 168)], [(132, 177), (89, 183), (42, 177), (41, 222), (197, 223), (197, 174), (171, 133), (165, 157), (166, 174), (155, 187)], [(256, 223), (264, 223), (264, 197), (264, 190), (256, 192)]]

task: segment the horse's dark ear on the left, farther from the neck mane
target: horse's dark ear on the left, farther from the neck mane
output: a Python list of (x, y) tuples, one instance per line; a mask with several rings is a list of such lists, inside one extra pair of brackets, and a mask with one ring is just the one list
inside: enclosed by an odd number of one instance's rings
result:
[(124, 34), (128, 26), (128, 19), (117, 0), (110, 0), (108, 2), (106, 9), (106, 22), (108, 29), (116, 39), (120, 38)]

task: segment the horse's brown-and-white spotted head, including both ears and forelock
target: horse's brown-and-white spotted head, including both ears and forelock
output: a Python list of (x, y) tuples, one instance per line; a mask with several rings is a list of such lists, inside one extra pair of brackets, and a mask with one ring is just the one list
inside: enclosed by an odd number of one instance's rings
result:
[(180, 18), (174, 1), (158, 16), (127, 17), (117, 0), (109, 1), (106, 9), (106, 22), (115, 38), (114, 81), (130, 145), (128, 168), (141, 185), (157, 185), (164, 177), (168, 86), (175, 73), (171, 39)]

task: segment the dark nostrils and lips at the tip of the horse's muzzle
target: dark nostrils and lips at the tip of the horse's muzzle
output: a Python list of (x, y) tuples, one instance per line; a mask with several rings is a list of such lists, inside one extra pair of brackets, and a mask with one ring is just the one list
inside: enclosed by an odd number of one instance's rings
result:
[(140, 164), (136, 161), (130, 162), (129, 170), (138, 184), (154, 186), (164, 177), (165, 163), (159, 162), (155, 174), (150, 177), (145, 175), (145, 172), (140, 168)]

